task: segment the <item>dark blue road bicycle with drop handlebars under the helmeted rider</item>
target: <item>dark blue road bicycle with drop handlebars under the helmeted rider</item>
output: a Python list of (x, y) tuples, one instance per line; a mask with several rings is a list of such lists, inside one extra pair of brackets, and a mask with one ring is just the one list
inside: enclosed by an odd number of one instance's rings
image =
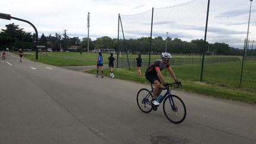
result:
[[(187, 114), (187, 110), (185, 108), (185, 104), (183, 100), (181, 100), (180, 97), (177, 95), (172, 95), (172, 85), (176, 84), (178, 88), (180, 87), (180, 84), (177, 84), (176, 82), (173, 83), (167, 83), (166, 87), (162, 87), (162, 90), (166, 90), (164, 96), (159, 100), (159, 103), (163, 103), (163, 110), (164, 114), (167, 117), (169, 121), (172, 123), (178, 124), (185, 120), (185, 116)], [(137, 105), (144, 113), (149, 113), (152, 110), (157, 110), (159, 105), (153, 105), (151, 103), (152, 100), (152, 94), (153, 94), (153, 85), (151, 84), (152, 90), (149, 91), (146, 88), (142, 88), (137, 92)]]

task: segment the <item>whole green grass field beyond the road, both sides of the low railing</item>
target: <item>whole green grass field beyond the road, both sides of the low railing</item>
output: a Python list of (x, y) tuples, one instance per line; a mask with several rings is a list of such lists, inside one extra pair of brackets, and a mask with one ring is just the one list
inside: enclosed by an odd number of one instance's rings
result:
[[(34, 53), (25, 53), (25, 57), (28, 59), (47, 63), (55, 66), (82, 66), (82, 65), (95, 65), (97, 59), (97, 53), (57, 53), (48, 52), (47, 56), (39, 53), (39, 59), (35, 59)], [(108, 54), (103, 54), (103, 57), (108, 57)], [(126, 55), (122, 55), (124, 57)], [(137, 55), (129, 55), (129, 57), (136, 58)], [(153, 59), (158, 59), (158, 55), (152, 55)], [(174, 56), (174, 57), (189, 57), (189, 56)], [(200, 56), (193, 56), (199, 58)], [(217, 57), (217, 56), (209, 56)], [(228, 57), (228, 56), (219, 56)], [(232, 57), (232, 56), (230, 56)], [(241, 57), (241, 56), (240, 56)], [(142, 58), (147, 59), (146, 55), (142, 55)], [(107, 64), (107, 62), (105, 62)], [(245, 61), (244, 73), (242, 77), (242, 87), (239, 88), (239, 81), (241, 76), (242, 62), (222, 62), (204, 65), (203, 83), (200, 81), (201, 65), (173, 65), (172, 69), (176, 73), (177, 77), (183, 82), (185, 91), (196, 92), (197, 94), (211, 95), (214, 97), (226, 98), (230, 100), (239, 100), (249, 103), (256, 103), (256, 62)], [(142, 72), (146, 71), (146, 67), (142, 67)], [(95, 74), (95, 69), (88, 71)], [(105, 75), (109, 75), (108, 68), (105, 65)], [(162, 71), (165, 75), (165, 71)], [(144, 76), (137, 76), (136, 68), (131, 67), (131, 71), (128, 68), (114, 69), (116, 78), (126, 79), (129, 81), (136, 81), (142, 83), (148, 83)], [(167, 81), (172, 81), (167, 73)]]

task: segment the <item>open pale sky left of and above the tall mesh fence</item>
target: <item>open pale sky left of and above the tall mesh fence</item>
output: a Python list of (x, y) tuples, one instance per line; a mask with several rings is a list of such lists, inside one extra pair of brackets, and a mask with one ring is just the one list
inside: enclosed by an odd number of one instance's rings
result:
[[(166, 7), (187, 1), (189, 0), (8, 0), (1, 1), (0, 12), (30, 21), (36, 26), (39, 37), (42, 33), (46, 36), (63, 34), (63, 30), (67, 30), (69, 37), (87, 37), (87, 15), (90, 12), (90, 37), (114, 38), (117, 37), (119, 14), (137, 14), (152, 7)], [(17, 20), (0, 20), (0, 28), (5, 28), (5, 25), (10, 23), (18, 24), (25, 31), (34, 33), (29, 24)]]

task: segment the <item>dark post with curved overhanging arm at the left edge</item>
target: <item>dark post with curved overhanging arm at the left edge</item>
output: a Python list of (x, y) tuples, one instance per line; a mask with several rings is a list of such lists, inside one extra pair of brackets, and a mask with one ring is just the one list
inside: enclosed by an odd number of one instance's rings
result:
[(25, 23), (30, 24), (30, 25), (34, 28), (34, 30), (36, 31), (36, 46), (35, 46), (35, 49), (36, 49), (36, 59), (38, 59), (38, 48), (37, 48), (37, 44), (38, 44), (38, 33), (37, 33), (36, 27), (35, 27), (32, 23), (30, 23), (29, 21), (23, 20), (23, 19), (21, 19), (21, 18), (11, 17), (10, 14), (0, 13), (0, 18), (1, 18), (1, 19), (5, 19), (5, 20), (11, 20), (11, 18), (12, 18), (12, 19), (14, 19), (14, 20), (23, 21), (23, 22), (25, 22)]

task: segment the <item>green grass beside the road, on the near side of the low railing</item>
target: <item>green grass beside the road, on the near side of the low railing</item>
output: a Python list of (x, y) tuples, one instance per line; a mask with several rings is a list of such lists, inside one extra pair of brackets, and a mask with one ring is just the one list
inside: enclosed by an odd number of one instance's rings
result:
[[(256, 75), (253, 74), (256, 71), (256, 62), (245, 62), (241, 88), (239, 88), (240, 73), (238, 71), (241, 71), (239, 64), (238, 62), (227, 62), (206, 65), (203, 83), (199, 82), (200, 65), (172, 66), (172, 69), (175, 71), (178, 79), (183, 82), (181, 89), (185, 91), (229, 100), (256, 103)], [(142, 72), (145, 72), (145, 69), (146, 67), (142, 67)], [(95, 69), (89, 71), (89, 73), (95, 73)], [(108, 69), (104, 69), (104, 73), (109, 75)], [(128, 71), (128, 68), (114, 69), (114, 74), (116, 78), (149, 84), (144, 76), (137, 76), (136, 68), (132, 68), (131, 71)], [(162, 74), (165, 75), (165, 71), (162, 71)], [(169, 82), (173, 81), (168, 74), (165, 79)]]

